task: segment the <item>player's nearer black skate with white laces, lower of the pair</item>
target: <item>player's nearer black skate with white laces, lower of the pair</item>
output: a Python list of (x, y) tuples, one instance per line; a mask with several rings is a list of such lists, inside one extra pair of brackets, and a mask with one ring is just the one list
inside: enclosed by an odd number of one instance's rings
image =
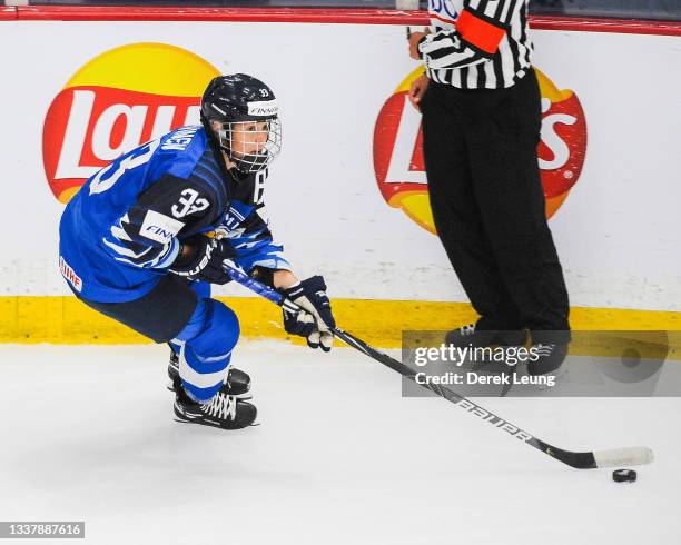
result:
[(255, 405), (230, 396), (225, 385), (210, 399), (198, 403), (191, 399), (182, 388), (179, 376), (174, 380), (175, 420), (188, 424), (201, 424), (221, 429), (241, 429), (253, 426), (258, 410)]

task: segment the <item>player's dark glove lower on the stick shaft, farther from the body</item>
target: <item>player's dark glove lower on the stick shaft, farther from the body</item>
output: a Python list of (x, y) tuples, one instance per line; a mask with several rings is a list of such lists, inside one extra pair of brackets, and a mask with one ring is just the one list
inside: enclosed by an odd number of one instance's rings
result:
[(330, 301), (326, 295), (326, 284), (320, 276), (313, 276), (290, 288), (279, 290), (304, 311), (289, 313), (284, 309), (284, 329), (293, 335), (307, 338), (310, 348), (332, 349), (336, 327)]

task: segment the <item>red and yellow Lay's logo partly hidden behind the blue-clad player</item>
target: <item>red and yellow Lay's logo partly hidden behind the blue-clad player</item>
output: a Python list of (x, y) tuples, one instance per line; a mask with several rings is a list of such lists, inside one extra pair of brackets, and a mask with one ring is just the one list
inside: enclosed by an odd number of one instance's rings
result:
[(55, 97), (42, 129), (45, 172), (68, 202), (105, 165), (199, 121), (200, 97), (218, 70), (185, 49), (132, 43), (87, 62)]

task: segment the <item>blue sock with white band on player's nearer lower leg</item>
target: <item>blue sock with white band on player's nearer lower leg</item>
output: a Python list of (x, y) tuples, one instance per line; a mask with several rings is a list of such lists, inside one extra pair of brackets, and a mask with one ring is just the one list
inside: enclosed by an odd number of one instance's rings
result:
[(179, 375), (182, 386), (196, 400), (210, 399), (223, 387), (238, 338), (236, 314), (220, 301), (200, 299), (177, 336), (181, 345)]

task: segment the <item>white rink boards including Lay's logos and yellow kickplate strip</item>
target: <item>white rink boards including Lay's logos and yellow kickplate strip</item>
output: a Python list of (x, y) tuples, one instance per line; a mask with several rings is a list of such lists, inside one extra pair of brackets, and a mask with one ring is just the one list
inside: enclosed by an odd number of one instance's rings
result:
[[(414, 21), (423, 21), (418, 17)], [(77, 190), (78, 177), (169, 123), (169, 108), (174, 122), (190, 120), (191, 108), (178, 105), (193, 93), (198, 100), (195, 90), (214, 71), (254, 73), (277, 93), (284, 151), (267, 182), (273, 229), (296, 271), (325, 276), (337, 308), (347, 309), (344, 327), (385, 331), (376, 338), (389, 346), (404, 323), (436, 319), (446, 327), (471, 317), (427, 229), (418, 117), (399, 103), (418, 68), (406, 56), (405, 22), (3, 20), (0, 46), (12, 53), (0, 67), (13, 75), (0, 88), (0, 174), (11, 191), (0, 216), (4, 338), (92, 337), (89, 310), (61, 299), (69, 295), (57, 265), (62, 201)], [(576, 307), (573, 327), (635, 320), (641, 328), (678, 328), (679, 38), (534, 30), (533, 39), (534, 62), (554, 86), (551, 96), (543, 93), (555, 108), (544, 115), (540, 166)], [(136, 48), (149, 42), (184, 52), (158, 62), (140, 53), (146, 63), (136, 63)], [(130, 56), (110, 54), (124, 46)], [(182, 79), (188, 58), (206, 68)], [(97, 100), (89, 111), (88, 92)], [(129, 112), (128, 122), (114, 116), (117, 108)], [(145, 127), (141, 133), (137, 126)], [(239, 298), (234, 305), (247, 334), (277, 336), (266, 305), (246, 304), (238, 288), (217, 293)], [(26, 308), (42, 319), (30, 326)], [(253, 321), (264, 325), (248, 329)], [(108, 330), (120, 341), (135, 338)]]

